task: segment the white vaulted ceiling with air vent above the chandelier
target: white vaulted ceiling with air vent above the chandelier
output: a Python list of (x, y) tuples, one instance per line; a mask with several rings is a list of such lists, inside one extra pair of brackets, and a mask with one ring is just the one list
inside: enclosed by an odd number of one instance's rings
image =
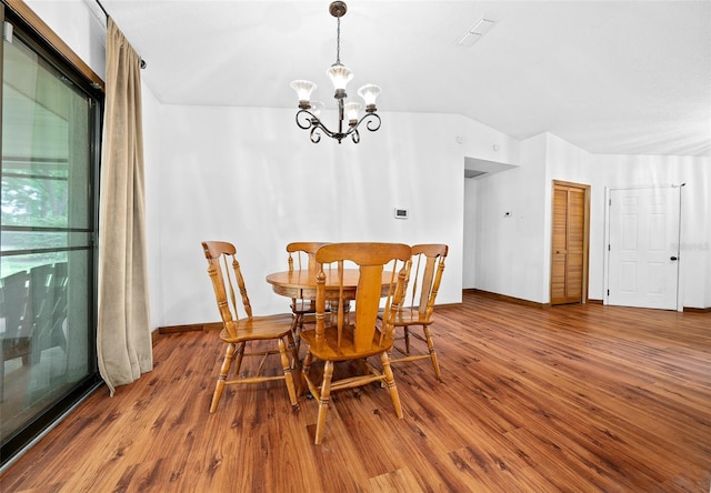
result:
[[(163, 103), (294, 108), (294, 79), (336, 61), (323, 1), (100, 0), (147, 61)], [(460, 113), (517, 139), (593, 153), (711, 155), (711, 0), (364, 1), (341, 19), (350, 94), (378, 108)], [(498, 23), (457, 44), (481, 17)]]

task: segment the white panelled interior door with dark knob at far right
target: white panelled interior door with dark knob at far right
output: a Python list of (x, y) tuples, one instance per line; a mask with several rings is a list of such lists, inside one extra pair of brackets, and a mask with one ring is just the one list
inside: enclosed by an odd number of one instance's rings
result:
[(608, 304), (678, 309), (680, 188), (610, 191)]

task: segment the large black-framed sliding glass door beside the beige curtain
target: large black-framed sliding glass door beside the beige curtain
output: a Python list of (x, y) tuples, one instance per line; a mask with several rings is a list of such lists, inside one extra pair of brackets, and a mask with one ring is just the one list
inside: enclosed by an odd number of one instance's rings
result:
[(2, 463), (99, 382), (101, 118), (101, 94), (6, 14), (12, 36), (0, 51)]

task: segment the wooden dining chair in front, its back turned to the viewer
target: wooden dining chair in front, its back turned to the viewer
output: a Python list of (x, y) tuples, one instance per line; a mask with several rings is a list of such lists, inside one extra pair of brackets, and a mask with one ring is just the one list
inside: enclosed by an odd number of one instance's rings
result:
[[(309, 391), (319, 402), (316, 444), (320, 444), (323, 439), (331, 392), (384, 382), (395, 414), (402, 419), (388, 352), (393, 342), (394, 312), (404, 295), (409, 259), (410, 247), (400, 243), (333, 243), (317, 251), (316, 260), (320, 270), (317, 276), (316, 328), (301, 332), (302, 341), (308, 344), (301, 374)], [(349, 265), (357, 265), (359, 271), (352, 309), (351, 300), (344, 298), (343, 288), (344, 266)], [(391, 271), (385, 271), (385, 265)], [(327, 272), (328, 292), (333, 293), (328, 295), (328, 300)], [(326, 312), (327, 301), (331, 302), (331, 313)], [(383, 322), (378, 326), (381, 305)], [(380, 358), (382, 370), (368, 361), (371, 356)], [(334, 363), (352, 360), (361, 360), (363, 371), (334, 380)], [(323, 362), (320, 381), (310, 374), (316, 361)]]

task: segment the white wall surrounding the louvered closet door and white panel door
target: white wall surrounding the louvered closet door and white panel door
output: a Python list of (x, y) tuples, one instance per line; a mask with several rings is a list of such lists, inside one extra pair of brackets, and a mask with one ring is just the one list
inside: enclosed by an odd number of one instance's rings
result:
[[(590, 200), (590, 278), (589, 296), (602, 300), (604, 292), (605, 189), (620, 187), (679, 185), (682, 189), (681, 275), (683, 305), (708, 308), (711, 276), (711, 160), (673, 155), (600, 155), (590, 154), (564, 140), (548, 134), (547, 199), (550, 204), (552, 180), (591, 185)], [(550, 210), (550, 207), (548, 208)], [(550, 252), (550, 213), (547, 215), (547, 242)], [(547, 255), (550, 273), (550, 255)], [(545, 282), (550, 282), (548, 274)]]

